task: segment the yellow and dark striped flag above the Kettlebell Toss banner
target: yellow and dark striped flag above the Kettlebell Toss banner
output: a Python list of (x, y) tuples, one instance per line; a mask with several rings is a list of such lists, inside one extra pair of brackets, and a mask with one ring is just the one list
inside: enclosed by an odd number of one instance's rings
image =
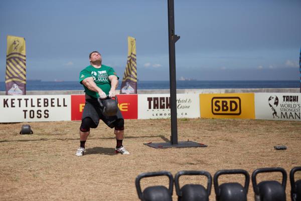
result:
[(8, 36), (6, 65), (6, 94), (26, 94), (26, 47), (25, 38)]

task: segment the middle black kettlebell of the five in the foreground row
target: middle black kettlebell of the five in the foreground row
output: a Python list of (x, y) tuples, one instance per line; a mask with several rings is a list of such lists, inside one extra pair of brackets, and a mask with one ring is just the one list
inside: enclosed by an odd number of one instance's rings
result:
[[(243, 174), (245, 176), (244, 186), (237, 182), (218, 184), (218, 177), (222, 174)], [(250, 175), (246, 170), (219, 170), (213, 178), (214, 190), (217, 201), (246, 201), (250, 183)]]

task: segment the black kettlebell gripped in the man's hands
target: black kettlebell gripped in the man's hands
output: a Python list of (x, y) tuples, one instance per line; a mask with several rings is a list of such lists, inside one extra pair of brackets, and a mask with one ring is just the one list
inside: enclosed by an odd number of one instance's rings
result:
[(118, 101), (117, 96), (110, 98), (107, 96), (105, 99), (101, 99), (100, 97), (97, 99), (100, 105), (100, 110), (105, 116), (115, 116), (118, 110)]

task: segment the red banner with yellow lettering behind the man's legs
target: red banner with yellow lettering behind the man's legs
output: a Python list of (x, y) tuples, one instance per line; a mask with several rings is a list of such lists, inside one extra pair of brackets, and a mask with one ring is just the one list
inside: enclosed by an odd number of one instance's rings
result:
[[(137, 119), (138, 96), (137, 94), (117, 95), (118, 107), (124, 119)], [(85, 95), (71, 95), (71, 121), (81, 120), (85, 106)]]

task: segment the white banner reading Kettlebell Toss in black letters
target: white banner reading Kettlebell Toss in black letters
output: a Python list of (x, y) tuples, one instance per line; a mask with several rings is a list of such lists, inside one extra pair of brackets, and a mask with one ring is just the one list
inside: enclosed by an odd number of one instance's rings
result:
[(0, 95), (0, 122), (71, 120), (71, 95)]

